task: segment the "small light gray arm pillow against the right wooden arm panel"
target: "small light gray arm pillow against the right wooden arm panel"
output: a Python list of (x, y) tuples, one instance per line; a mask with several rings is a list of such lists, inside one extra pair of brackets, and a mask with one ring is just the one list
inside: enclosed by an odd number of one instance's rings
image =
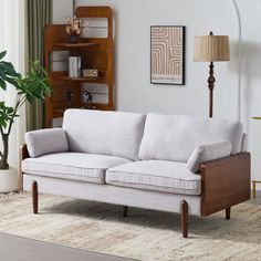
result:
[(231, 150), (232, 144), (230, 142), (197, 146), (187, 161), (187, 168), (191, 173), (197, 173), (200, 170), (201, 163), (228, 157)]

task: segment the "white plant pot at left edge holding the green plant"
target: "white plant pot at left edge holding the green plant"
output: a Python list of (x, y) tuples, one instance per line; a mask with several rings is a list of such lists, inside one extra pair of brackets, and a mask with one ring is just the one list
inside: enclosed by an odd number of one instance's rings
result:
[(15, 168), (0, 169), (0, 192), (18, 190), (18, 171)]

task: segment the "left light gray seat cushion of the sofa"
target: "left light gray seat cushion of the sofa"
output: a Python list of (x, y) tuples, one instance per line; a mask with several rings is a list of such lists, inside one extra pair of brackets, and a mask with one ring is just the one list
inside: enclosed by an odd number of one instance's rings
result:
[(130, 160), (119, 157), (58, 153), (22, 161), (22, 171), (29, 175), (105, 184), (106, 169)]

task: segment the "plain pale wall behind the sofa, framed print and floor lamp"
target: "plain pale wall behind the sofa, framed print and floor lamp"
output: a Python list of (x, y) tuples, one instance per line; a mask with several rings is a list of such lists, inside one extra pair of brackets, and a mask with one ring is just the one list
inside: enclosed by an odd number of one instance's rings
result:
[[(250, 132), (250, 117), (261, 115), (260, 0), (75, 0), (75, 3), (108, 4), (114, 9), (118, 111), (208, 116), (208, 63), (192, 62), (192, 52), (194, 35), (212, 30), (215, 34), (229, 34), (231, 41), (231, 62), (215, 66), (215, 117), (238, 118), (240, 112), (240, 119)], [(72, 6), (72, 0), (54, 0), (54, 22), (63, 23)], [(186, 25), (185, 86), (149, 83), (150, 25), (160, 24)]]

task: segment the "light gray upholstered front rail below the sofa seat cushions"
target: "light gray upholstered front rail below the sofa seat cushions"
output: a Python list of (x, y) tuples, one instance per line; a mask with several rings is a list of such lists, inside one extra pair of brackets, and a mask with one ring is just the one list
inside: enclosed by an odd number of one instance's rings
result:
[(33, 180), (38, 182), (39, 192), (41, 194), (69, 196), (100, 202), (156, 209), (169, 212), (179, 212), (180, 201), (186, 200), (188, 202), (189, 213), (200, 216), (200, 196), (165, 194), (27, 174), (23, 178), (24, 190), (31, 190)]

